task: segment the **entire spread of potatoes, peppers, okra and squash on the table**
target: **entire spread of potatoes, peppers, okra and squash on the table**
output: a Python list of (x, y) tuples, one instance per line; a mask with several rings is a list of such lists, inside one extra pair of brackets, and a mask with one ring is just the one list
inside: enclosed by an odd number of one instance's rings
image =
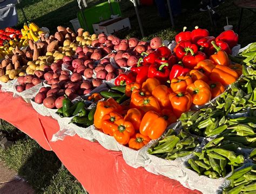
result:
[(231, 180), (224, 193), (254, 190), (254, 166), (242, 169), (256, 156), (255, 43), (232, 56), (232, 30), (180, 32), (171, 51), (159, 37), (23, 27), (5, 29), (15, 35), (2, 46), (0, 81), (15, 80), (18, 93), (42, 84), (32, 104), (111, 145)]

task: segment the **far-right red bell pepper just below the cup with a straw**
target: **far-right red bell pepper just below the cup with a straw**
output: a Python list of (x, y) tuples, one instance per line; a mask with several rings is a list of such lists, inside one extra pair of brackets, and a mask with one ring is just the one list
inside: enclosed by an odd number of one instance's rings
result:
[(234, 33), (233, 30), (227, 30), (222, 32), (218, 37), (216, 38), (216, 41), (222, 40), (224, 42), (227, 42), (228, 46), (232, 49), (235, 45), (237, 45), (238, 42), (238, 34)]

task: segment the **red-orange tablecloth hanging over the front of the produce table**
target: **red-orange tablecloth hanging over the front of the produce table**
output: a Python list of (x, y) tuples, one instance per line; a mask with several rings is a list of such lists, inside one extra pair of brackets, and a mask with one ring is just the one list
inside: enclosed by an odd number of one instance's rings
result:
[(57, 120), (44, 117), (31, 104), (0, 91), (0, 118), (35, 139), (46, 150), (52, 150), (89, 193), (200, 193), (184, 188), (178, 181), (154, 175), (144, 168), (128, 166), (122, 152), (107, 150), (98, 142), (75, 135), (51, 142), (59, 131)]

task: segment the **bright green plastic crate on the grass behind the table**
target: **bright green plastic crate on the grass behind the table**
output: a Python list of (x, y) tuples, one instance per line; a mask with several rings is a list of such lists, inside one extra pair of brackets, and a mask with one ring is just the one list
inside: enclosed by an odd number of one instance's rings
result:
[[(92, 6), (91, 8), (85, 8), (82, 10), (84, 18), (86, 20), (86, 25), (88, 27), (88, 31), (93, 33), (92, 24), (100, 23), (100, 21), (110, 19), (111, 15), (119, 15), (121, 16), (121, 10), (119, 4), (111, 1), (111, 6), (113, 13), (111, 12), (111, 7), (109, 2), (100, 3), (98, 5)], [(83, 24), (83, 16), (82, 13), (79, 11), (77, 13), (77, 18), (79, 20), (80, 26), (86, 29), (85, 25)]]

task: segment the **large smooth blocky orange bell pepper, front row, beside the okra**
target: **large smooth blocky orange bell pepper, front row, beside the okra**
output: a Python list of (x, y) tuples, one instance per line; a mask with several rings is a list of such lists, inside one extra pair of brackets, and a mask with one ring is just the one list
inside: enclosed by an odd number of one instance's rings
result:
[(167, 125), (167, 121), (160, 114), (148, 111), (142, 119), (139, 132), (150, 139), (158, 139), (165, 132)]

